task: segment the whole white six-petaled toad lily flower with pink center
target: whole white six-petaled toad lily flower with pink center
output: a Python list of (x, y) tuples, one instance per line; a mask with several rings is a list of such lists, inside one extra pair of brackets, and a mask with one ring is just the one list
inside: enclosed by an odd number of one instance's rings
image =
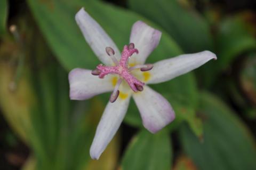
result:
[(100, 93), (113, 92), (91, 145), (90, 155), (93, 159), (99, 159), (114, 137), (124, 119), (131, 96), (140, 111), (143, 126), (151, 133), (156, 133), (172, 122), (175, 115), (170, 103), (146, 84), (165, 82), (211, 59), (217, 59), (212, 52), (203, 51), (145, 64), (148, 55), (160, 41), (161, 31), (142, 21), (135, 22), (130, 44), (125, 45), (120, 53), (112, 39), (84, 9), (76, 14), (75, 19), (86, 42), (105, 65), (99, 64), (94, 70), (71, 70), (70, 99), (85, 100)]

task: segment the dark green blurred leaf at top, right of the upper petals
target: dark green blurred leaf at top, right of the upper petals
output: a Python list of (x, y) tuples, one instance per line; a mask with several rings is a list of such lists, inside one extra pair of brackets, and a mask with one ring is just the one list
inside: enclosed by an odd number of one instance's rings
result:
[(131, 9), (162, 26), (186, 53), (212, 49), (209, 25), (194, 9), (169, 0), (128, 2)]

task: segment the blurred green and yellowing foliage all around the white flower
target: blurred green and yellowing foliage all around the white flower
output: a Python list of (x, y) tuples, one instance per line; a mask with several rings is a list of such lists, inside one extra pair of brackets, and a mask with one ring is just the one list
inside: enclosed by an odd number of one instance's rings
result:
[[(157, 134), (132, 101), (98, 161), (89, 148), (109, 94), (69, 100), (68, 72), (99, 63), (74, 20), (81, 7), (119, 48), (137, 20), (160, 29), (150, 63), (218, 56), (151, 86), (177, 117)], [(255, 9), (253, 0), (1, 0), (0, 169), (255, 169)]]

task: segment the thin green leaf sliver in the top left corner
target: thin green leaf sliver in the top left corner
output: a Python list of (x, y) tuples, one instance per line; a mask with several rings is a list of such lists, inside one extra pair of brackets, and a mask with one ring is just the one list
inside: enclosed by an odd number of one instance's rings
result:
[(0, 1), (0, 37), (6, 32), (8, 5), (7, 0)]

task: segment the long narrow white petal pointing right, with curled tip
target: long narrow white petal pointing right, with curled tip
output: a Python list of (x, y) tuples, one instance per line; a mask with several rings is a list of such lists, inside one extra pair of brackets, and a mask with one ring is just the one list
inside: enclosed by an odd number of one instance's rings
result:
[(178, 77), (202, 66), (211, 59), (217, 60), (217, 56), (210, 51), (202, 51), (158, 61), (154, 64), (153, 69), (149, 71), (150, 79), (147, 84), (161, 83)]

